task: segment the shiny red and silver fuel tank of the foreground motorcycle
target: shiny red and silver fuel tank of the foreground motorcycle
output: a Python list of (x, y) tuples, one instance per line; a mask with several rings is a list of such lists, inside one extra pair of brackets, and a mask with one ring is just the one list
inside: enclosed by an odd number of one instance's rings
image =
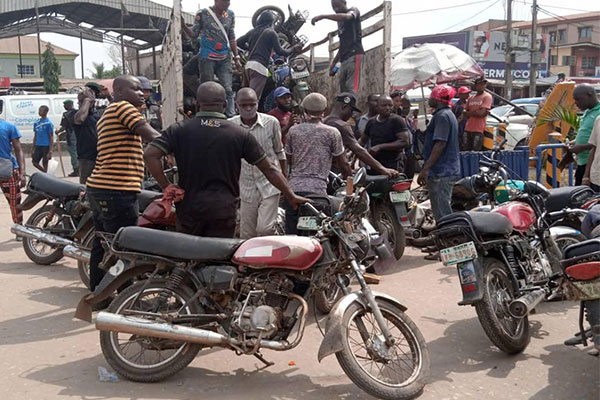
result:
[(257, 268), (304, 271), (323, 254), (321, 244), (304, 236), (263, 236), (245, 241), (233, 255), (233, 262)]

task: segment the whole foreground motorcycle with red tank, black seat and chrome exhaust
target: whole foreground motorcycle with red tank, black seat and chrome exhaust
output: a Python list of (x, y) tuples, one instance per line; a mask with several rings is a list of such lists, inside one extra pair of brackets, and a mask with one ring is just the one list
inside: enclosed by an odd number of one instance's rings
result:
[[(427, 345), (406, 307), (373, 292), (365, 281), (364, 170), (354, 182), (358, 190), (348, 189), (334, 217), (307, 206), (320, 221), (314, 237), (243, 241), (123, 228), (104, 242), (108, 256), (121, 265), (111, 267), (103, 289), (82, 299), (76, 317), (91, 321), (90, 304), (142, 275), (146, 279), (121, 291), (96, 316), (102, 352), (119, 374), (160, 381), (204, 347), (253, 355), (271, 365), (261, 350), (286, 351), (302, 341), (308, 301), (333, 275), (344, 297), (328, 317), (318, 360), (335, 354), (347, 376), (375, 397), (412, 398), (429, 374)], [(359, 291), (351, 292), (348, 274), (357, 279)], [(376, 368), (369, 367), (373, 364)]]

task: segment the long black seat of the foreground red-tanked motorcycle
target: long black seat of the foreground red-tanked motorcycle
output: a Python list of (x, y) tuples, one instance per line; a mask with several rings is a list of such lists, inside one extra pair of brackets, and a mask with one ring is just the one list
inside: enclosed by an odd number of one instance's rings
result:
[(115, 244), (122, 249), (179, 260), (227, 261), (244, 242), (128, 226), (121, 228)]

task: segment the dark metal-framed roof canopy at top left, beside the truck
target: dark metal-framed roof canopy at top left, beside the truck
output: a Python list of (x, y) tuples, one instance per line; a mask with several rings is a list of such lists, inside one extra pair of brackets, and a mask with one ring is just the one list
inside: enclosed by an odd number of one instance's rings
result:
[[(171, 15), (170, 7), (149, 0), (2, 0), (0, 38), (36, 33), (36, 5), (42, 32), (111, 43), (122, 33), (125, 45), (138, 50), (162, 44), (160, 29)], [(194, 16), (184, 19), (192, 23)]]

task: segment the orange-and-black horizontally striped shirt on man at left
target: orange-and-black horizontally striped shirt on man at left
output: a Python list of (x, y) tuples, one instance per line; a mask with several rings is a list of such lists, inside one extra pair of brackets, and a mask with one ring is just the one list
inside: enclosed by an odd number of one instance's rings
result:
[(133, 127), (144, 117), (131, 103), (111, 103), (98, 121), (98, 156), (87, 186), (139, 192), (144, 177), (142, 137)]

